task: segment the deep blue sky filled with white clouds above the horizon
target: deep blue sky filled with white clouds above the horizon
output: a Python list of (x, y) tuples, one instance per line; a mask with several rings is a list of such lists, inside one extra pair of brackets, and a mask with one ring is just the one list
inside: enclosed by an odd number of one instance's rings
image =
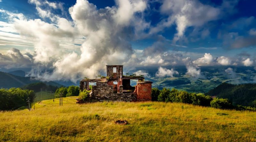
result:
[(1, 0), (0, 65), (50, 79), (76, 72), (74, 80), (101, 64), (255, 66), (254, 7), (253, 0)]

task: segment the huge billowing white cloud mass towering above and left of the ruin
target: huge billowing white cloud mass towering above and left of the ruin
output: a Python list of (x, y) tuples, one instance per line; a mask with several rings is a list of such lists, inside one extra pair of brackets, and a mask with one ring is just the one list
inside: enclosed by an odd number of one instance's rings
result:
[[(71, 79), (74, 82), (85, 76), (95, 77), (99, 70), (104, 69), (102, 64), (122, 64), (131, 57), (133, 50), (127, 30), (134, 29), (138, 24), (136, 18), (140, 16), (135, 13), (144, 11), (147, 5), (141, 0), (118, 0), (117, 6), (98, 10), (87, 0), (77, 0), (69, 8), (72, 18), (69, 21), (42, 6), (48, 4), (54, 9), (57, 3), (29, 2), (36, 5), (39, 16), (53, 22), (13, 19), (21, 35), (36, 38), (34, 63), (38, 65), (31, 75), (43, 80)], [(75, 46), (77, 43), (81, 47)], [(70, 48), (78, 52), (64, 50)], [(40, 67), (45, 66), (52, 66), (52, 71), (42, 73)]]

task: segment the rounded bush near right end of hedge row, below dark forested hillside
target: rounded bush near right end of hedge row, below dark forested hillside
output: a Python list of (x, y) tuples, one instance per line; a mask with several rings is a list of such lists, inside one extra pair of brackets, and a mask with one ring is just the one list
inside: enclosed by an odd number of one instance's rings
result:
[(229, 101), (228, 99), (214, 98), (211, 101), (211, 107), (212, 108), (221, 108), (221, 109), (232, 109), (233, 105), (232, 105), (232, 102)]

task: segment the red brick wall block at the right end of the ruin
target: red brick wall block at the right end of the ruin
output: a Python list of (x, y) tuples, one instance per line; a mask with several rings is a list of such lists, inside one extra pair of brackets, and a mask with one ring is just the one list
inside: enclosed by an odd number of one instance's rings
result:
[(151, 101), (152, 83), (137, 83), (135, 91), (137, 92), (137, 101)]

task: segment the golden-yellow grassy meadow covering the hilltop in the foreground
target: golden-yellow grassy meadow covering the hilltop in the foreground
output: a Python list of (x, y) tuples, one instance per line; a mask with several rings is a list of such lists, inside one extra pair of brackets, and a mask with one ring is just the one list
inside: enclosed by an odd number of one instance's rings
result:
[(55, 99), (36, 103), (30, 112), (0, 112), (0, 141), (256, 141), (256, 112), (164, 102), (75, 102), (67, 97), (61, 107)]

